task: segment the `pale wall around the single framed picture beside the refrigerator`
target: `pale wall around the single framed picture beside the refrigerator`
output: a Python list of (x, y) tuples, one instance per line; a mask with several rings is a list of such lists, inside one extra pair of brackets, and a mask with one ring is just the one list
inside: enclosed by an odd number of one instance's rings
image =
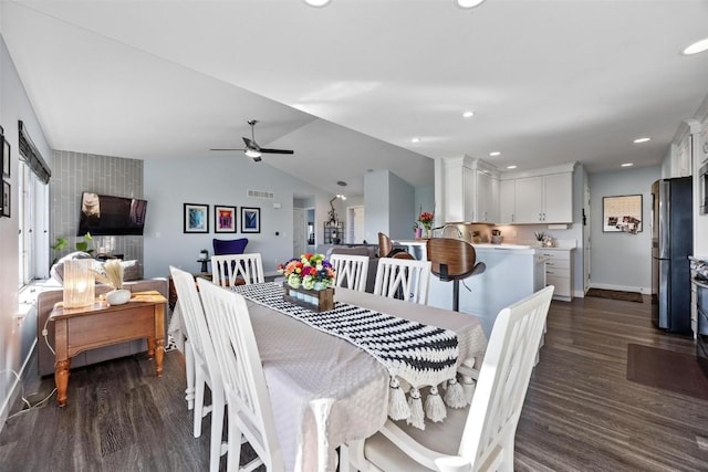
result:
[[(652, 289), (652, 183), (660, 167), (591, 174), (592, 286), (641, 291)], [(603, 197), (642, 195), (643, 231), (637, 234), (603, 232)]]

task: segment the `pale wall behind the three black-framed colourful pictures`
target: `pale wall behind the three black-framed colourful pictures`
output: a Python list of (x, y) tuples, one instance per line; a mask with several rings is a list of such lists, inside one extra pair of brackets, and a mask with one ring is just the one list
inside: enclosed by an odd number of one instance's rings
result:
[[(247, 190), (270, 191), (275, 198), (248, 198)], [(207, 248), (211, 253), (214, 238), (248, 238), (246, 252), (260, 252), (264, 271), (274, 274), (277, 264), (293, 256), (293, 195), (314, 195), (316, 221), (326, 221), (330, 193), (266, 162), (222, 156), (146, 160), (145, 276), (167, 276), (170, 264), (198, 272), (199, 251)], [(184, 203), (209, 206), (209, 233), (184, 233)], [(280, 203), (281, 208), (273, 208), (273, 203)], [(238, 207), (236, 233), (214, 232), (215, 204)], [(240, 232), (241, 207), (261, 209), (260, 233)], [(317, 241), (322, 242), (321, 231)]]

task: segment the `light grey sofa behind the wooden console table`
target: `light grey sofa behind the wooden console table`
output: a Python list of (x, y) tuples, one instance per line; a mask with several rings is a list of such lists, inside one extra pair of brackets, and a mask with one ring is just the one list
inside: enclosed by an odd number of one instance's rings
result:
[[(41, 292), (37, 297), (37, 358), (40, 376), (54, 374), (54, 354), (46, 346), (49, 343), (54, 347), (54, 329), (48, 322), (49, 315), (58, 302), (64, 296), (64, 290), (56, 284), (55, 289), (48, 289)], [(165, 298), (168, 296), (167, 279), (143, 279), (137, 281), (124, 282), (124, 289), (131, 292), (157, 291)], [(96, 296), (111, 291), (110, 285), (96, 284)], [(169, 321), (169, 311), (165, 310), (165, 346), (167, 346), (167, 326)], [(42, 332), (46, 329), (46, 340)], [(115, 359), (118, 357), (131, 356), (133, 354), (144, 353), (147, 350), (147, 342), (145, 339), (135, 339), (127, 343), (115, 344), (113, 346), (101, 347), (96, 349), (85, 350), (77, 354), (71, 359), (72, 369), (75, 367), (88, 366), (91, 364), (102, 363), (104, 360)]]

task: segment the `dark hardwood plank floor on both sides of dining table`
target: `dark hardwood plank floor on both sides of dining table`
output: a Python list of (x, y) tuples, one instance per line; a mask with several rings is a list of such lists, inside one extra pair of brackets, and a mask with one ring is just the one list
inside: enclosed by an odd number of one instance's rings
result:
[[(519, 422), (516, 470), (708, 470), (708, 401), (628, 381), (629, 343), (694, 352), (693, 339), (652, 326), (646, 298), (553, 302)], [(192, 438), (184, 359), (179, 352), (165, 357), (162, 378), (140, 355), (72, 371), (65, 408), (52, 397), (7, 422), (0, 470), (208, 470), (209, 420)], [(24, 385), (34, 402), (53, 378)]]

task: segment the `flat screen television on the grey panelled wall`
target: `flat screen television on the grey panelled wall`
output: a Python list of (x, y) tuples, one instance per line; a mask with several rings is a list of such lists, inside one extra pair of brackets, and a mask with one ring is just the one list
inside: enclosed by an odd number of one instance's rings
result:
[(84, 191), (76, 235), (143, 235), (147, 201)]

